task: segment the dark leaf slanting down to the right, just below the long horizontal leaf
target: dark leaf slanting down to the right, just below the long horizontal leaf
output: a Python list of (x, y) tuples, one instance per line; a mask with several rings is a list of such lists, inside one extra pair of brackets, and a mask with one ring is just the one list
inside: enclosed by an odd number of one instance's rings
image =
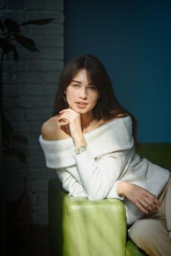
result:
[(20, 45), (23, 45), (23, 47), (27, 48), (30, 51), (38, 51), (39, 52), (33, 39), (31, 39), (29, 37), (25, 37), (21, 34), (13, 33), (13, 35), (14, 35), (16, 41), (18, 41), (20, 43)]

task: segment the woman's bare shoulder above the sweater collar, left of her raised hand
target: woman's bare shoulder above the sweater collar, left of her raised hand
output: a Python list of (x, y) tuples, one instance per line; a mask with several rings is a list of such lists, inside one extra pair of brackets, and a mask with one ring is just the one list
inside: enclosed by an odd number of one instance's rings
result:
[(69, 138), (69, 135), (66, 135), (60, 129), (58, 115), (53, 116), (42, 124), (41, 134), (44, 140), (64, 140)]

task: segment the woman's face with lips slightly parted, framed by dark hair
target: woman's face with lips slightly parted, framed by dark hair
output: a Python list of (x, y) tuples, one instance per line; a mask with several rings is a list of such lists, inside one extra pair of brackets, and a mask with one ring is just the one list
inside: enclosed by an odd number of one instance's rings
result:
[(67, 86), (66, 100), (69, 108), (77, 113), (92, 113), (99, 99), (99, 91), (87, 78), (86, 69), (81, 69)]

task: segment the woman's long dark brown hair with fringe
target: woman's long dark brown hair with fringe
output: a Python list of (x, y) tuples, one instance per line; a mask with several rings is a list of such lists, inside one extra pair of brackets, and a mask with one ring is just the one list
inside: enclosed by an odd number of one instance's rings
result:
[(58, 80), (58, 89), (56, 93), (55, 104), (53, 108), (53, 116), (56, 116), (60, 110), (68, 108), (66, 102), (67, 86), (81, 69), (86, 69), (88, 80), (96, 86), (100, 97), (94, 107), (94, 118), (100, 120), (110, 120), (118, 116), (131, 116), (132, 118), (132, 134), (134, 136), (135, 146), (137, 146), (137, 121), (128, 110), (118, 102), (113, 91), (113, 86), (104, 65), (99, 59), (90, 54), (75, 56), (66, 64), (61, 76)]

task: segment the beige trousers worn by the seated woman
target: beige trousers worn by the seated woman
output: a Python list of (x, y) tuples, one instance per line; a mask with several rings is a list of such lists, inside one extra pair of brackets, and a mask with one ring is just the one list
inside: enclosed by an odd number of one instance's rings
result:
[(134, 222), (128, 234), (147, 255), (171, 255), (171, 176), (159, 197), (161, 206)]

